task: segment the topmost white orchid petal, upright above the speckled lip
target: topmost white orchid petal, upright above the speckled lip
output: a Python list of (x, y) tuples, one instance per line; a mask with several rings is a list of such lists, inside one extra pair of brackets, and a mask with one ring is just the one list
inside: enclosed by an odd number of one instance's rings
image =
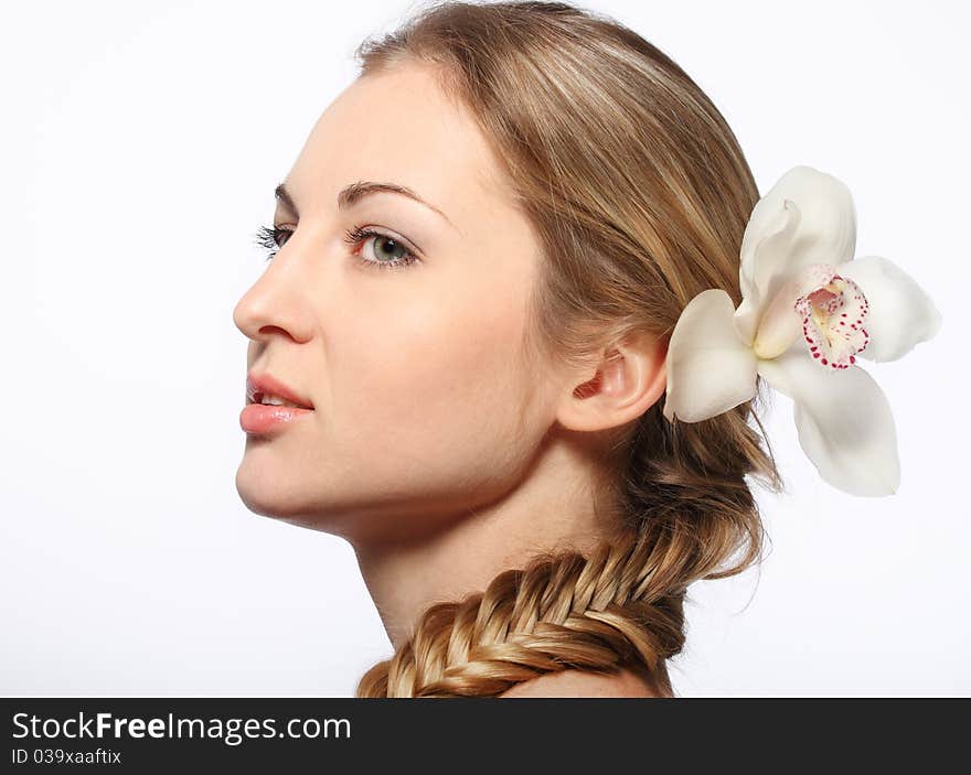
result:
[(804, 164), (783, 174), (756, 203), (741, 239), (743, 303), (734, 323), (743, 341), (751, 343), (765, 306), (803, 267), (849, 261), (855, 246), (856, 211), (846, 185)]

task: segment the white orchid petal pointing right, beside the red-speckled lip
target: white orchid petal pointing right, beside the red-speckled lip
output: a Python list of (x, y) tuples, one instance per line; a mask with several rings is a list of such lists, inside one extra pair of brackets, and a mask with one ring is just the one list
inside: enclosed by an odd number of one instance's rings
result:
[(857, 353), (874, 362), (896, 360), (940, 331), (941, 314), (907, 272), (879, 256), (864, 256), (836, 269), (860, 286), (869, 302), (864, 326), (869, 343)]

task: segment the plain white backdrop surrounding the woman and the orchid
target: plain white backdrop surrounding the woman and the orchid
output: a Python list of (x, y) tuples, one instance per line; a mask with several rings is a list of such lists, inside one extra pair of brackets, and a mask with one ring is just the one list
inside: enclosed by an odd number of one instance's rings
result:
[[(866, 364), (896, 495), (790, 494), (760, 571), (691, 589), (681, 696), (969, 695), (969, 55), (962, 3), (596, 2), (673, 56), (765, 193), (843, 180), (857, 256), (938, 337)], [(350, 546), (234, 487), (253, 233), (351, 52), (404, 2), (31, 2), (3, 12), (0, 692), (351, 696), (391, 654)]]

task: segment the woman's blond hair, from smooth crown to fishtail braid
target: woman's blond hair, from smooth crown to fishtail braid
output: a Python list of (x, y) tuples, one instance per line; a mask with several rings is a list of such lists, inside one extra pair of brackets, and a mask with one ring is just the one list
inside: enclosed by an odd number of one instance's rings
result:
[[(436, 2), (355, 57), (362, 77), (433, 65), (504, 164), (543, 254), (531, 346), (579, 362), (591, 343), (669, 337), (705, 289), (740, 302), (751, 171), (707, 96), (631, 30), (559, 2)], [(628, 668), (673, 696), (665, 661), (684, 644), (687, 586), (762, 557), (746, 476), (785, 488), (748, 422), (764, 431), (759, 386), (690, 424), (669, 423), (662, 397), (605, 459), (616, 506), (599, 548), (536, 556), (483, 592), (430, 605), (356, 696), (495, 696), (569, 668)]]

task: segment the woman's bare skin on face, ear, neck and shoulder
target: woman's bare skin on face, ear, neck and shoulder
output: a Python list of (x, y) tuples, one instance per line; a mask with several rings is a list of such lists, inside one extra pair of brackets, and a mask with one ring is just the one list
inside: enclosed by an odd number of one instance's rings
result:
[[(387, 192), (339, 209), (338, 192), (358, 181), (408, 186), (444, 215)], [(423, 65), (352, 83), (284, 183), (299, 212), (278, 202), (275, 224), (295, 230), (233, 319), (247, 368), (313, 411), (247, 434), (236, 488), (256, 514), (348, 540), (397, 648), (425, 606), (605, 535), (601, 431), (659, 399), (666, 351), (626, 342), (580, 370), (527, 357), (538, 244), (481, 131)], [(401, 247), (349, 244), (354, 226)], [(419, 262), (355, 262), (403, 250)], [(513, 691), (638, 688), (648, 691), (632, 674), (570, 670)]]

